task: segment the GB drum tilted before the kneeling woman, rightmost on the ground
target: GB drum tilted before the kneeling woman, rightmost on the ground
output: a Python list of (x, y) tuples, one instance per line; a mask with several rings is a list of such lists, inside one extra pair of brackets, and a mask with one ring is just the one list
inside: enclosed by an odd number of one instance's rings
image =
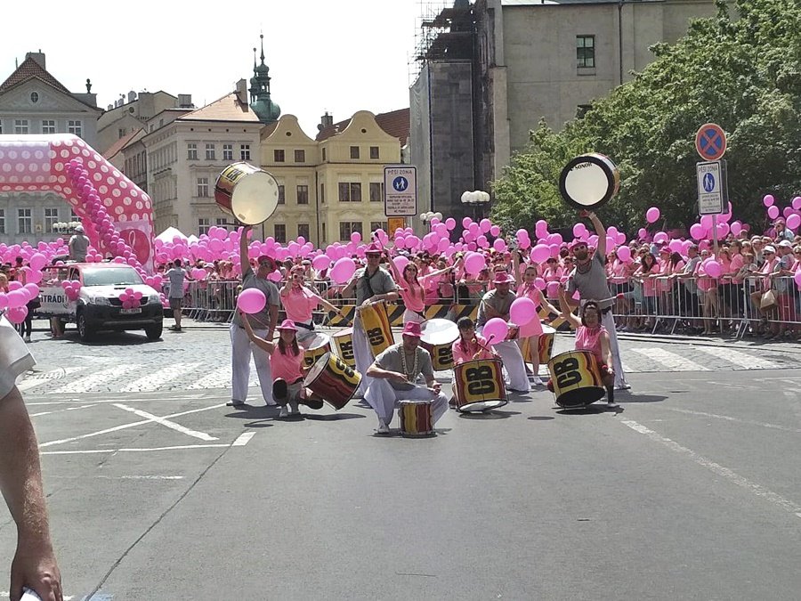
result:
[(601, 372), (595, 355), (589, 351), (568, 351), (548, 361), (556, 404), (565, 409), (580, 409), (603, 397)]

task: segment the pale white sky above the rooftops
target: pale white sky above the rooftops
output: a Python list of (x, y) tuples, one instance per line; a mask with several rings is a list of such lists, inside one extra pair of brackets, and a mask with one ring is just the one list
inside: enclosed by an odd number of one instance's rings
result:
[[(357, 110), (409, 107), (419, 18), (443, 0), (238, 0), (236, 3), (88, 0), (4, 3), (0, 81), (39, 49), (70, 92), (92, 80), (98, 106), (120, 94), (192, 94), (195, 106), (253, 76), (264, 34), (271, 97), (312, 138), (325, 111), (335, 122)], [(35, 9), (32, 8), (35, 6)], [(108, 8), (103, 8), (104, 6)], [(249, 84), (248, 84), (249, 85)]]

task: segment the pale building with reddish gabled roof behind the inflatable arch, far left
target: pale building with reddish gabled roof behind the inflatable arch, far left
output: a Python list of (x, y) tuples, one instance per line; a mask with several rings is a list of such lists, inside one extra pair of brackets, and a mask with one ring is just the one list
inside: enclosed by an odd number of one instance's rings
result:
[[(0, 134), (75, 134), (94, 146), (97, 121), (95, 94), (71, 93), (47, 72), (44, 53), (28, 53), (25, 61), (0, 84)], [(0, 194), (0, 242), (19, 244), (60, 238), (54, 223), (79, 221), (55, 192)]]

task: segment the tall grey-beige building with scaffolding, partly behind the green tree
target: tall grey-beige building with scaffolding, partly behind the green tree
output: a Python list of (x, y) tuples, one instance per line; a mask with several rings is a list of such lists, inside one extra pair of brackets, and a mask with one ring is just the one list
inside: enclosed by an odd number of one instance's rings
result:
[(540, 119), (561, 129), (652, 61), (651, 45), (675, 42), (690, 19), (716, 11), (713, 0), (427, 5), (410, 92), (411, 158), (420, 198), (457, 217), (470, 215), (462, 192), (490, 191)]

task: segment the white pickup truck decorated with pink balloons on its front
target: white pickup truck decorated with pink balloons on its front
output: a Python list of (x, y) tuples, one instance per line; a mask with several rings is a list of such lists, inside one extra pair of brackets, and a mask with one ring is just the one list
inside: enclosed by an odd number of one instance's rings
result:
[[(81, 341), (93, 339), (103, 329), (144, 329), (149, 340), (161, 337), (164, 321), (161, 298), (130, 265), (73, 263), (43, 271), (39, 284), (42, 305), (36, 309), (36, 314), (75, 323)], [(65, 280), (80, 282), (77, 293), (68, 294), (62, 284)], [(126, 298), (128, 288), (142, 293), (142, 297), (124, 303), (120, 295)]]

